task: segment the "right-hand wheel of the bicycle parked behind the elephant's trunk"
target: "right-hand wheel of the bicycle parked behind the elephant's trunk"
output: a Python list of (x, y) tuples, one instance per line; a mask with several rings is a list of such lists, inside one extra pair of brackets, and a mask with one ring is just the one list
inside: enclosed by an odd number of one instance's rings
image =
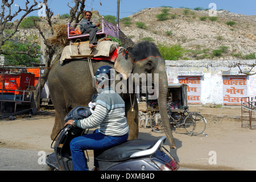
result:
[(185, 130), (191, 135), (199, 135), (204, 132), (207, 121), (203, 115), (189, 113), (184, 119)]

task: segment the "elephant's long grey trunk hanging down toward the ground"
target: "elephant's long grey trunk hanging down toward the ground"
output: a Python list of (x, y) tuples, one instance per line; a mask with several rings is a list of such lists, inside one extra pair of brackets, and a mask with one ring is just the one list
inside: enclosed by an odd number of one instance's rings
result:
[(168, 92), (168, 81), (165, 67), (162, 68), (163, 72), (159, 74), (159, 96), (158, 96), (158, 107), (163, 122), (164, 132), (170, 142), (171, 148), (176, 148), (174, 137), (172, 135), (170, 122), (167, 115), (167, 92)]

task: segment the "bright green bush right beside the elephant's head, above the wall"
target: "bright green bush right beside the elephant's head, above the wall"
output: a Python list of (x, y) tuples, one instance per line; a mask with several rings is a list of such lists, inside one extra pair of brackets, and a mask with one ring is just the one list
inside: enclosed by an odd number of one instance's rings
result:
[(158, 44), (160, 54), (165, 60), (179, 60), (183, 57), (185, 49), (179, 45)]

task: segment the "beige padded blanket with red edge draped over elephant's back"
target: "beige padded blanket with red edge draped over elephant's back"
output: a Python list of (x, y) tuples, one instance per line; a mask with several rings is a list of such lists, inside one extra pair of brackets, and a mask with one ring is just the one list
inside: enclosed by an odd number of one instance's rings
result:
[(60, 64), (63, 64), (65, 60), (73, 60), (77, 58), (90, 57), (92, 60), (109, 60), (114, 62), (117, 58), (117, 48), (119, 44), (111, 40), (106, 40), (98, 43), (98, 46), (90, 56), (91, 49), (89, 48), (89, 42), (76, 43), (70, 46), (66, 46), (63, 49), (60, 57)]

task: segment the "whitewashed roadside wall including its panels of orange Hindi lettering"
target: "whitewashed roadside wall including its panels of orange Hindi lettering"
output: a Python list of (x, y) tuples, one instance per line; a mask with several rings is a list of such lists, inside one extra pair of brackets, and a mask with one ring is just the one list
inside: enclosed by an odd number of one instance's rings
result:
[(168, 84), (187, 84), (188, 104), (241, 105), (255, 98), (256, 75), (238, 74), (238, 63), (246, 71), (255, 60), (166, 60)]

